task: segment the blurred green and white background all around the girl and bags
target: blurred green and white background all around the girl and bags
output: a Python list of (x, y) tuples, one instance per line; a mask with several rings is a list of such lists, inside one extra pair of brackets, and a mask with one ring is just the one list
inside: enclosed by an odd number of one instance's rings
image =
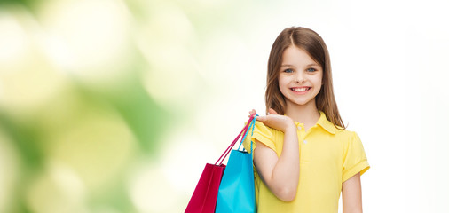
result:
[(443, 212), (445, 8), (2, 0), (0, 212), (183, 212), (204, 164), (251, 108), (264, 114), (268, 54), (290, 26), (327, 42), (343, 121), (372, 165), (362, 177), (364, 210)]

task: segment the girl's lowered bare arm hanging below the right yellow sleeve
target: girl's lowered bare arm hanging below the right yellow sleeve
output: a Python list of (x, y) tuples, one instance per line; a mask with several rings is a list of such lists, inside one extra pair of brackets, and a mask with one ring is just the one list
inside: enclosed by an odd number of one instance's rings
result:
[[(256, 153), (254, 153), (256, 154)], [(362, 213), (362, 186), (360, 173), (343, 182), (343, 213)]]

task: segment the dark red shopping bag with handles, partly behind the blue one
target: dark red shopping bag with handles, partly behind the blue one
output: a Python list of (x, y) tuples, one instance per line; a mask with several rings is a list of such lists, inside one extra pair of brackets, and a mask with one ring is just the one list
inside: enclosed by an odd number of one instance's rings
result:
[(235, 138), (231, 145), (227, 147), (225, 152), (218, 158), (215, 164), (206, 163), (202, 171), (200, 180), (193, 191), (193, 195), (185, 209), (185, 213), (214, 213), (217, 203), (217, 194), (220, 182), (222, 180), (225, 164), (223, 161), (232, 150), (232, 147), (239, 141), (242, 133), (248, 133), (248, 126), (253, 120), (254, 115), (250, 116), (245, 127), (240, 131), (237, 138)]

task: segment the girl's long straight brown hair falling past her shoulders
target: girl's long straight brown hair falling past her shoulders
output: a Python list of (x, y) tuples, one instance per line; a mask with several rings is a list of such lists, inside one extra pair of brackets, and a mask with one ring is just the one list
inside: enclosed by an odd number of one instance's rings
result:
[(282, 53), (291, 45), (307, 51), (311, 59), (314, 59), (323, 68), (323, 85), (315, 98), (316, 106), (327, 115), (327, 120), (334, 123), (335, 127), (345, 129), (335, 102), (332, 86), (332, 69), (326, 43), (324, 43), (321, 36), (309, 28), (286, 28), (280, 32), (280, 35), (272, 44), (266, 79), (266, 111), (268, 112), (268, 109), (272, 108), (279, 114), (284, 114), (285, 112), (286, 100), (280, 92), (279, 73)]

